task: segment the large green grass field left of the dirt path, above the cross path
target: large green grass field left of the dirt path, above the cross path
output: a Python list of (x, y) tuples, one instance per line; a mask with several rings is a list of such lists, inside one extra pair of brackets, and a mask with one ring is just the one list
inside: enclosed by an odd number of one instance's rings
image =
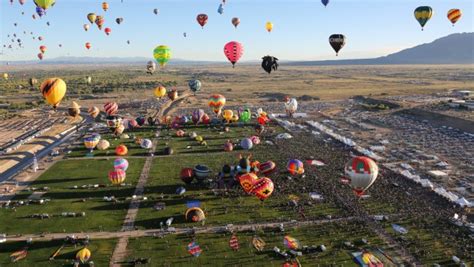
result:
[[(0, 233), (27, 234), (40, 232), (80, 232), (119, 230), (129, 202), (125, 197), (133, 195), (135, 184), (141, 173), (144, 159), (129, 159), (126, 183), (123, 187), (110, 186), (107, 174), (113, 169), (111, 160), (66, 160), (60, 161), (48, 169), (32, 187), (49, 187), (42, 198), (51, 199), (44, 205), (31, 204), (16, 209), (0, 209)], [(86, 184), (105, 184), (97, 189), (70, 189)], [(21, 194), (27, 198), (29, 194)], [(104, 196), (122, 198), (120, 203), (106, 202)], [(82, 202), (82, 199), (86, 199)], [(25, 218), (35, 213), (59, 215), (61, 212), (85, 212), (86, 217), (50, 219)]]

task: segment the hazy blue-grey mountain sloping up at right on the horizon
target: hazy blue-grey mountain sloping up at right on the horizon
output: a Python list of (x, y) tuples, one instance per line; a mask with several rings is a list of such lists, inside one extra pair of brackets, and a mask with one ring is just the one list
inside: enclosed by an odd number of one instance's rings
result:
[(291, 62), (290, 65), (474, 64), (474, 33), (455, 33), (385, 57)]

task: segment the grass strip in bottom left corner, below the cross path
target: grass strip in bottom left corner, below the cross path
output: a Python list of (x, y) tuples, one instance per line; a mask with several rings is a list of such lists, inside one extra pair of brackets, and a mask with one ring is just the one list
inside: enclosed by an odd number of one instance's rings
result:
[[(92, 240), (88, 245), (91, 251), (91, 261), (94, 261), (95, 266), (107, 266), (109, 258), (115, 247), (116, 240)], [(65, 247), (54, 261), (49, 261), (49, 256), (59, 248), (62, 240), (33, 242), (28, 249), (28, 256), (16, 263), (10, 262), (10, 254), (12, 252), (23, 249), (25, 242), (10, 242), (0, 246), (0, 266), (72, 266), (72, 260), (75, 259), (76, 253), (82, 246), (68, 246)], [(85, 265), (83, 265), (85, 266)]]

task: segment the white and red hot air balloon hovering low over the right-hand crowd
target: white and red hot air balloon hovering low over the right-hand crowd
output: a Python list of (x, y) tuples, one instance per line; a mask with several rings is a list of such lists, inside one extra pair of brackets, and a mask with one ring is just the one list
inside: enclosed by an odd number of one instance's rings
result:
[(352, 190), (361, 196), (377, 179), (379, 167), (372, 159), (360, 156), (349, 160), (344, 171), (351, 180)]

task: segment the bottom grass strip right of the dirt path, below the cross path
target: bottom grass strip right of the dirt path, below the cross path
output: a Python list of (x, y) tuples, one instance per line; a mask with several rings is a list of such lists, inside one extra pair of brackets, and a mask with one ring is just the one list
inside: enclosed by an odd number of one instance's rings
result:
[[(323, 253), (299, 257), (303, 266), (357, 266), (349, 253), (367, 247), (359, 242), (362, 238), (370, 242), (368, 246), (382, 245), (368, 229), (355, 222), (286, 229), (284, 233), (257, 231), (257, 235), (266, 242), (262, 252), (256, 251), (252, 246), (254, 233), (250, 232), (237, 233), (240, 244), (238, 251), (229, 247), (230, 234), (199, 234), (195, 240), (203, 252), (198, 258), (192, 257), (187, 251), (186, 246), (192, 240), (192, 237), (187, 235), (131, 239), (129, 249), (134, 257), (150, 257), (153, 266), (281, 266), (284, 259), (277, 256), (272, 249), (277, 246), (286, 250), (283, 237), (291, 235), (298, 239), (301, 245), (324, 244), (327, 248)], [(355, 243), (358, 248), (347, 250), (342, 246), (345, 241)]]

